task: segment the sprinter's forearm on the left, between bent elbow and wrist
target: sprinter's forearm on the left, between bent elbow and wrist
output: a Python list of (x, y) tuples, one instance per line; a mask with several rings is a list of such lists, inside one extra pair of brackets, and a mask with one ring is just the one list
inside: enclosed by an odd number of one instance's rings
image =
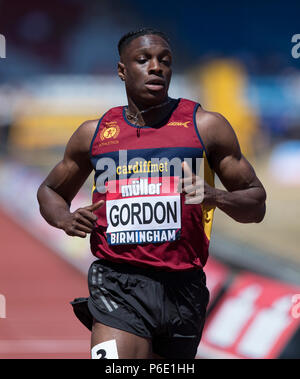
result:
[(68, 202), (46, 184), (42, 184), (37, 193), (40, 213), (44, 219), (56, 228), (62, 228), (63, 220), (70, 215)]

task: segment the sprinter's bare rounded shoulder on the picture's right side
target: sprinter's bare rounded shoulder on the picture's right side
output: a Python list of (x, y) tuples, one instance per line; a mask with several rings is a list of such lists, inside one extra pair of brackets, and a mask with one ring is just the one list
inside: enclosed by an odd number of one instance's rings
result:
[(232, 126), (220, 113), (210, 112), (198, 107), (196, 126), (209, 155), (218, 152), (220, 149), (239, 149)]

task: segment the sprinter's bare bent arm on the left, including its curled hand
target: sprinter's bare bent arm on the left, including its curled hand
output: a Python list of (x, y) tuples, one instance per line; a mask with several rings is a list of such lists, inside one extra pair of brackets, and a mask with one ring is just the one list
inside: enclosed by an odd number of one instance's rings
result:
[(83, 123), (70, 138), (63, 160), (54, 167), (39, 187), (37, 197), (40, 212), (52, 226), (63, 229), (68, 235), (85, 237), (90, 233), (96, 216), (94, 204), (70, 212), (70, 205), (92, 171), (89, 147), (97, 121)]

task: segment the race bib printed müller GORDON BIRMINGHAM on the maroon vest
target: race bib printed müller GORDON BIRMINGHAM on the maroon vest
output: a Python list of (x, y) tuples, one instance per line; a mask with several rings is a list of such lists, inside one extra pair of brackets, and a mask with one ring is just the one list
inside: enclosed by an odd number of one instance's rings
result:
[(180, 237), (178, 177), (130, 178), (107, 183), (110, 245), (161, 243)]

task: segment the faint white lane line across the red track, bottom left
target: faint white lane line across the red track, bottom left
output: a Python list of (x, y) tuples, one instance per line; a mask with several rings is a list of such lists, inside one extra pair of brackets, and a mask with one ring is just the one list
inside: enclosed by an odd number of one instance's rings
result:
[(89, 340), (0, 340), (0, 354), (86, 353), (89, 349)]

